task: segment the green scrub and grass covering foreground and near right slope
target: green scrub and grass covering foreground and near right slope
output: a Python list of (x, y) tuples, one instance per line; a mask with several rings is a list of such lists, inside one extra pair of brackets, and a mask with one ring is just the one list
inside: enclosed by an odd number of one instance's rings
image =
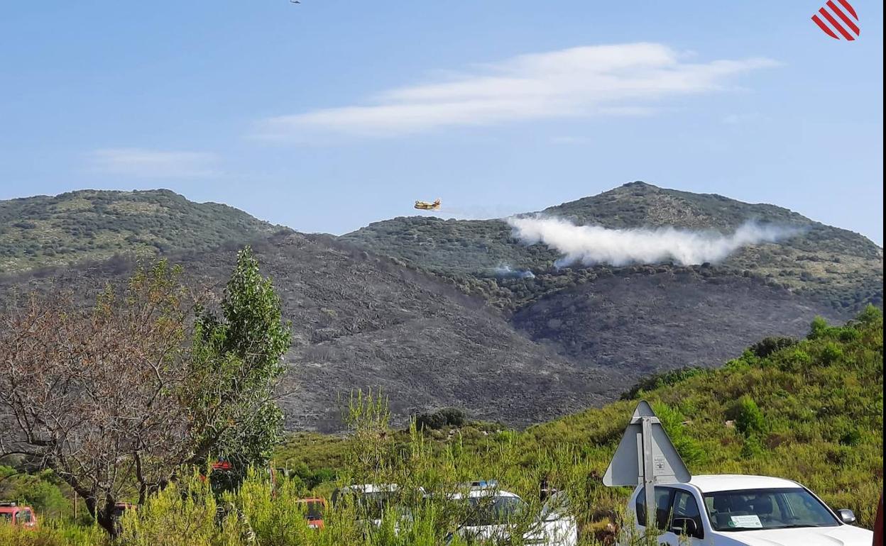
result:
[[(277, 465), (297, 476), (273, 488), (261, 474), (216, 497), (202, 481), (167, 488), (123, 521), (119, 544), (344, 545), (443, 544), (465, 514), (446, 502), (455, 484), (497, 480), (529, 504), (509, 544), (525, 544), (540, 510), (542, 481), (568, 491), (581, 543), (607, 542), (628, 491), (601, 476), (633, 407), (649, 400), (693, 473), (763, 473), (795, 479), (835, 508), (873, 525), (882, 491), (882, 311), (868, 307), (844, 327), (812, 323), (803, 341), (767, 339), (719, 370), (650, 378), (626, 399), (524, 432), (495, 427), (392, 431), (384, 399), (357, 396), (351, 434), (299, 434), (278, 450)], [(328, 496), (336, 485), (398, 483), (410, 518), (390, 511), (370, 532), (352, 506), (338, 505), (327, 527), (304, 524), (299, 496)], [(423, 499), (419, 487), (436, 494)], [(220, 509), (221, 507), (221, 509)], [(64, 519), (35, 533), (0, 527), (0, 544), (107, 544), (97, 527)], [(460, 544), (456, 537), (454, 544)]]

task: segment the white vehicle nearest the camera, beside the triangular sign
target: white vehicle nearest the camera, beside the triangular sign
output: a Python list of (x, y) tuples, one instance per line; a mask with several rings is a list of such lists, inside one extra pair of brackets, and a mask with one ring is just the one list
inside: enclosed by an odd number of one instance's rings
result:
[[(656, 486), (659, 544), (668, 546), (870, 546), (849, 510), (831, 510), (796, 481), (747, 475), (694, 476)], [(637, 536), (646, 534), (643, 488), (631, 496)], [(625, 538), (623, 537), (623, 542)]]

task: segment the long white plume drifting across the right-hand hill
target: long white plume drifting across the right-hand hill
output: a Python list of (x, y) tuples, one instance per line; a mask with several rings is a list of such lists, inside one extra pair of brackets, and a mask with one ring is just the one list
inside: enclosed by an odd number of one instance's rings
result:
[(775, 242), (797, 235), (800, 229), (746, 222), (733, 234), (693, 231), (676, 227), (609, 229), (576, 226), (558, 218), (512, 217), (507, 219), (514, 235), (526, 244), (543, 242), (559, 250), (557, 265), (716, 263), (735, 250), (759, 242)]

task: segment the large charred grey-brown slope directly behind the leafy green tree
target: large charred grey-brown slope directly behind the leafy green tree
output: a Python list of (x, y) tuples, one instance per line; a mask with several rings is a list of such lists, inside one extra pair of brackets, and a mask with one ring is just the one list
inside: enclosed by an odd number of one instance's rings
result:
[[(254, 242), (291, 320), (293, 343), (281, 405), (291, 428), (335, 429), (356, 388), (382, 388), (394, 418), (441, 406), (524, 426), (629, 386), (593, 365), (575, 366), (518, 334), (482, 302), (419, 273), (326, 236), (277, 235)], [(236, 248), (171, 256), (187, 281), (221, 297)], [(42, 276), (7, 276), (15, 288), (69, 288), (89, 296), (134, 264), (113, 260)]]

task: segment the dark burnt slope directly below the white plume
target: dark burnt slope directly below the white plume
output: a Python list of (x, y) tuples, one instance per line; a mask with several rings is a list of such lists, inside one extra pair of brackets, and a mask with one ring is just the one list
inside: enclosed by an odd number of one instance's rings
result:
[(542, 298), (512, 322), (579, 364), (594, 362), (638, 380), (682, 366), (720, 365), (768, 335), (804, 335), (816, 315), (851, 318), (709, 267), (678, 273), (635, 267)]

